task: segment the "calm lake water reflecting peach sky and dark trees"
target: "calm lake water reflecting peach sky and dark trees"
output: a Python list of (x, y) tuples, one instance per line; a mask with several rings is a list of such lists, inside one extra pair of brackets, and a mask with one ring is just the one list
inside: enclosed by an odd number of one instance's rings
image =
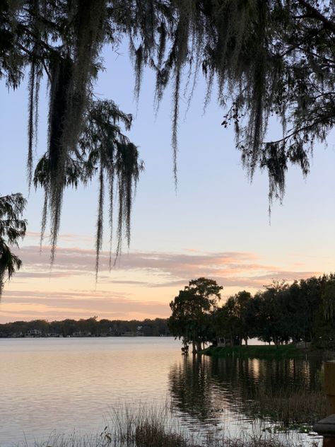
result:
[[(171, 402), (187, 430), (254, 424), (261, 387), (313, 389), (321, 361), (185, 358), (170, 337), (0, 339), (0, 446), (101, 432), (108, 414)], [(305, 439), (308, 442), (308, 439)]]

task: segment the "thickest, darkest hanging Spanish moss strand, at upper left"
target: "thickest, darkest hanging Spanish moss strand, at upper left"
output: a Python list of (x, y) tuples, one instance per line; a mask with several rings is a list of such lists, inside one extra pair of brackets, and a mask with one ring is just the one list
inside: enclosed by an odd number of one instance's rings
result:
[[(96, 58), (102, 45), (105, 0), (78, 0), (72, 4), (74, 42), (68, 54), (51, 61), (49, 105), (49, 207), (51, 261), (57, 245), (61, 205), (66, 187), (66, 166), (76, 152), (88, 107), (90, 82), (96, 73)], [(73, 53), (73, 59), (71, 58)]]

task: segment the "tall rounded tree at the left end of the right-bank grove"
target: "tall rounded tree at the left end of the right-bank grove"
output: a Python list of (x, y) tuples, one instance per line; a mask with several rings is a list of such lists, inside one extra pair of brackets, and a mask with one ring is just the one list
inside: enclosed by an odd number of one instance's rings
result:
[(170, 303), (170, 332), (192, 342), (193, 352), (201, 349), (201, 342), (211, 339), (211, 312), (221, 298), (221, 289), (213, 279), (193, 279)]

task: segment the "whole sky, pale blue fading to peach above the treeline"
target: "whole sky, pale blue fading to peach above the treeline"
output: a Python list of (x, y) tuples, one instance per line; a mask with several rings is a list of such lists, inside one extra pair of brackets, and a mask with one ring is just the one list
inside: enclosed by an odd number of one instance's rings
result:
[[(166, 318), (169, 303), (191, 279), (209, 277), (223, 286), (222, 301), (242, 289), (254, 293), (273, 279), (293, 281), (334, 272), (335, 133), (317, 144), (311, 172), (290, 167), (283, 204), (268, 214), (266, 173), (252, 183), (242, 169), (233, 132), (221, 127), (224, 111), (215, 95), (204, 113), (206, 85), (199, 78), (187, 110), (181, 100), (175, 189), (171, 149), (171, 89), (158, 114), (155, 80), (147, 69), (139, 103), (127, 50), (105, 50), (105, 71), (95, 86), (134, 115), (129, 138), (145, 163), (134, 199), (131, 243), (110, 271), (108, 229), (95, 282), (95, 219), (98, 185), (66, 191), (54, 266), (48, 240), (40, 251), (42, 192), (26, 181), (28, 93), (0, 84), (0, 195), (28, 198), (28, 232), (17, 254), (23, 267), (6, 283), (0, 323), (15, 320)], [(215, 93), (215, 92), (214, 92)], [(46, 150), (47, 93), (40, 93), (35, 160)], [(270, 132), (278, 133), (271, 125)]]

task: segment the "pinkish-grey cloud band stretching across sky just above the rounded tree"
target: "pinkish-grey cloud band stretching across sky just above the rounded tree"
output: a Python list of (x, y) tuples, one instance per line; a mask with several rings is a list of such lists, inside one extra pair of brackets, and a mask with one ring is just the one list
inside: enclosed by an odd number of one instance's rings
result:
[[(82, 248), (58, 248), (52, 269), (49, 267), (49, 248), (31, 245), (21, 248), (18, 253), (23, 260), (21, 279), (66, 278), (90, 275), (94, 277), (95, 250)], [(187, 284), (189, 279), (211, 277), (226, 286), (261, 286), (271, 279), (306, 278), (319, 272), (304, 272), (281, 269), (278, 266), (259, 262), (259, 256), (252, 252), (216, 253), (174, 253), (174, 252), (132, 252), (118, 258), (111, 276), (110, 256), (100, 256), (99, 282), (102, 284), (128, 284), (148, 287), (171, 287)], [(298, 266), (295, 266), (298, 267)], [(117, 277), (115, 277), (117, 272)], [(140, 274), (141, 272), (141, 274)], [(127, 277), (122, 275), (127, 273)], [(130, 278), (130, 275), (132, 278)], [(136, 278), (137, 277), (137, 278)], [(145, 277), (145, 279), (139, 279)], [(134, 279), (133, 279), (134, 278)]]

